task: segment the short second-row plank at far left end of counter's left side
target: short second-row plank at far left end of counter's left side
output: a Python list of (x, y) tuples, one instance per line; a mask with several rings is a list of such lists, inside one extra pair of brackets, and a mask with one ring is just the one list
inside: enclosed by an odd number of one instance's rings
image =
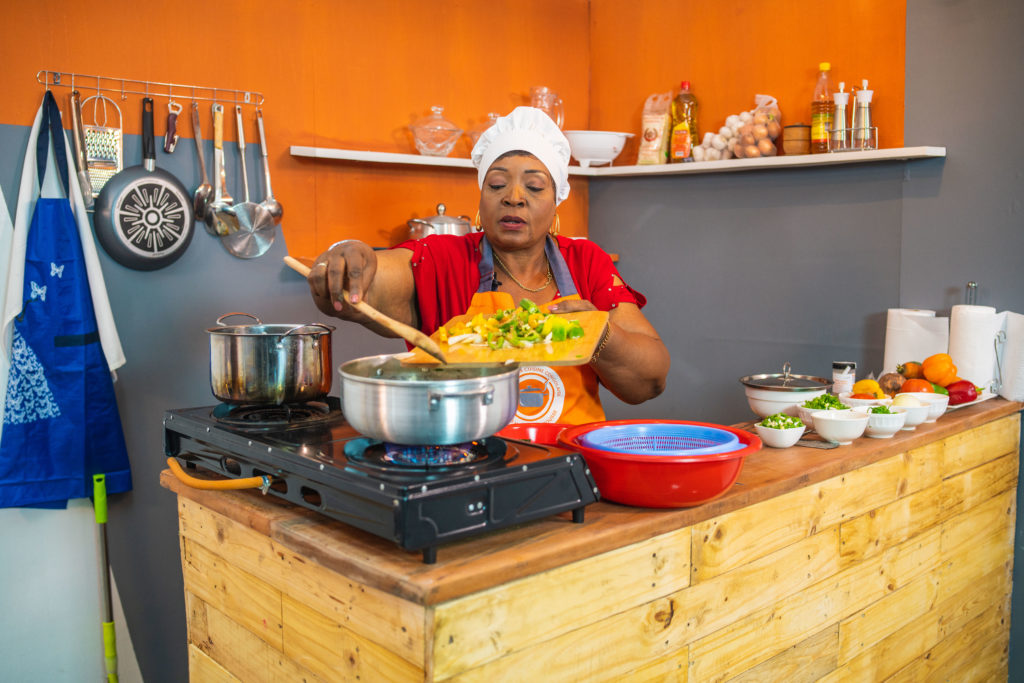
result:
[(184, 557), (185, 590), (282, 649), (280, 591), (191, 541)]

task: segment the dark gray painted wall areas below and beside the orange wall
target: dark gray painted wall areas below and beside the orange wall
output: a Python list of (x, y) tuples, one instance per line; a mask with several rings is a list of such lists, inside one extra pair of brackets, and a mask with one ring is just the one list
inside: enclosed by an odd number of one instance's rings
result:
[[(668, 391), (640, 407), (609, 397), (609, 417), (735, 422), (752, 417), (743, 375), (785, 360), (816, 375), (834, 359), (877, 371), (887, 308), (948, 309), (969, 280), (980, 303), (1024, 310), (1024, 143), (1013, 133), (1024, 95), (1012, 76), (1024, 62), (1022, 7), (908, 2), (906, 144), (946, 145), (945, 161), (592, 180), (591, 236), (621, 255), (673, 353)], [(0, 183), (12, 208), (27, 137), (0, 126)], [(137, 138), (129, 143), (126, 159), (137, 159)], [(159, 164), (198, 183), (190, 142), (161, 152)], [(117, 391), (135, 480), (111, 503), (111, 556), (152, 682), (187, 679), (176, 510), (158, 484), (163, 413), (213, 402), (205, 330), (219, 314), (317, 318), (305, 283), (281, 263), (282, 240), (243, 261), (197, 228), (163, 270), (128, 270), (100, 253), (128, 357)], [(352, 326), (335, 334), (336, 361), (401, 348)]]

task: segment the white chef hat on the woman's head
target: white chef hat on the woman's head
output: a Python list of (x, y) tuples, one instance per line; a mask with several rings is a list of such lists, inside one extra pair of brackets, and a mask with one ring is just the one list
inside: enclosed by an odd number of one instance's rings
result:
[(480, 135), (471, 157), (477, 186), (483, 187), (483, 176), (499, 157), (517, 151), (528, 152), (548, 168), (555, 204), (561, 204), (569, 196), (569, 141), (550, 116), (532, 106), (515, 108)]

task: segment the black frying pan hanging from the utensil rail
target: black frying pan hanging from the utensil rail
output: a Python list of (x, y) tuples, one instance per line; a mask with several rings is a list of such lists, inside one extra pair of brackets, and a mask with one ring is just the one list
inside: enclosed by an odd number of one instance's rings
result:
[(96, 198), (96, 239), (115, 261), (156, 270), (176, 261), (196, 226), (193, 200), (176, 177), (157, 168), (153, 99), (142, 99), (142, 164), (118, 172)]

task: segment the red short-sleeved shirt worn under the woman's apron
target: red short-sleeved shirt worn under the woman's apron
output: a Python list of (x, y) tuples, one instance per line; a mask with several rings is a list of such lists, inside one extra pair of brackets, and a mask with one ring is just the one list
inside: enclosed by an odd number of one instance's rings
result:
[[(409, 240), (394, 249), (413, 252), (413, 280), (420, 308), (420, 330), (433, 333), (469, 308), (473, 294), (480, 288), (480, 240), (483, 232), (465, 236), (431, 234)], [(626, 301), (643, 307), (646, 297), (629, 285), (613, 285), (612, 276), (625, 283), (611, 257), (590, 240), (558, 236), (558, 251), (568, 265), (572, 284), (582, 299), (598, 310), (611, 310)], [(499, 278), (501, 275), (499, 274)], [(559, 293), (556, 296), (563, 296)]]

